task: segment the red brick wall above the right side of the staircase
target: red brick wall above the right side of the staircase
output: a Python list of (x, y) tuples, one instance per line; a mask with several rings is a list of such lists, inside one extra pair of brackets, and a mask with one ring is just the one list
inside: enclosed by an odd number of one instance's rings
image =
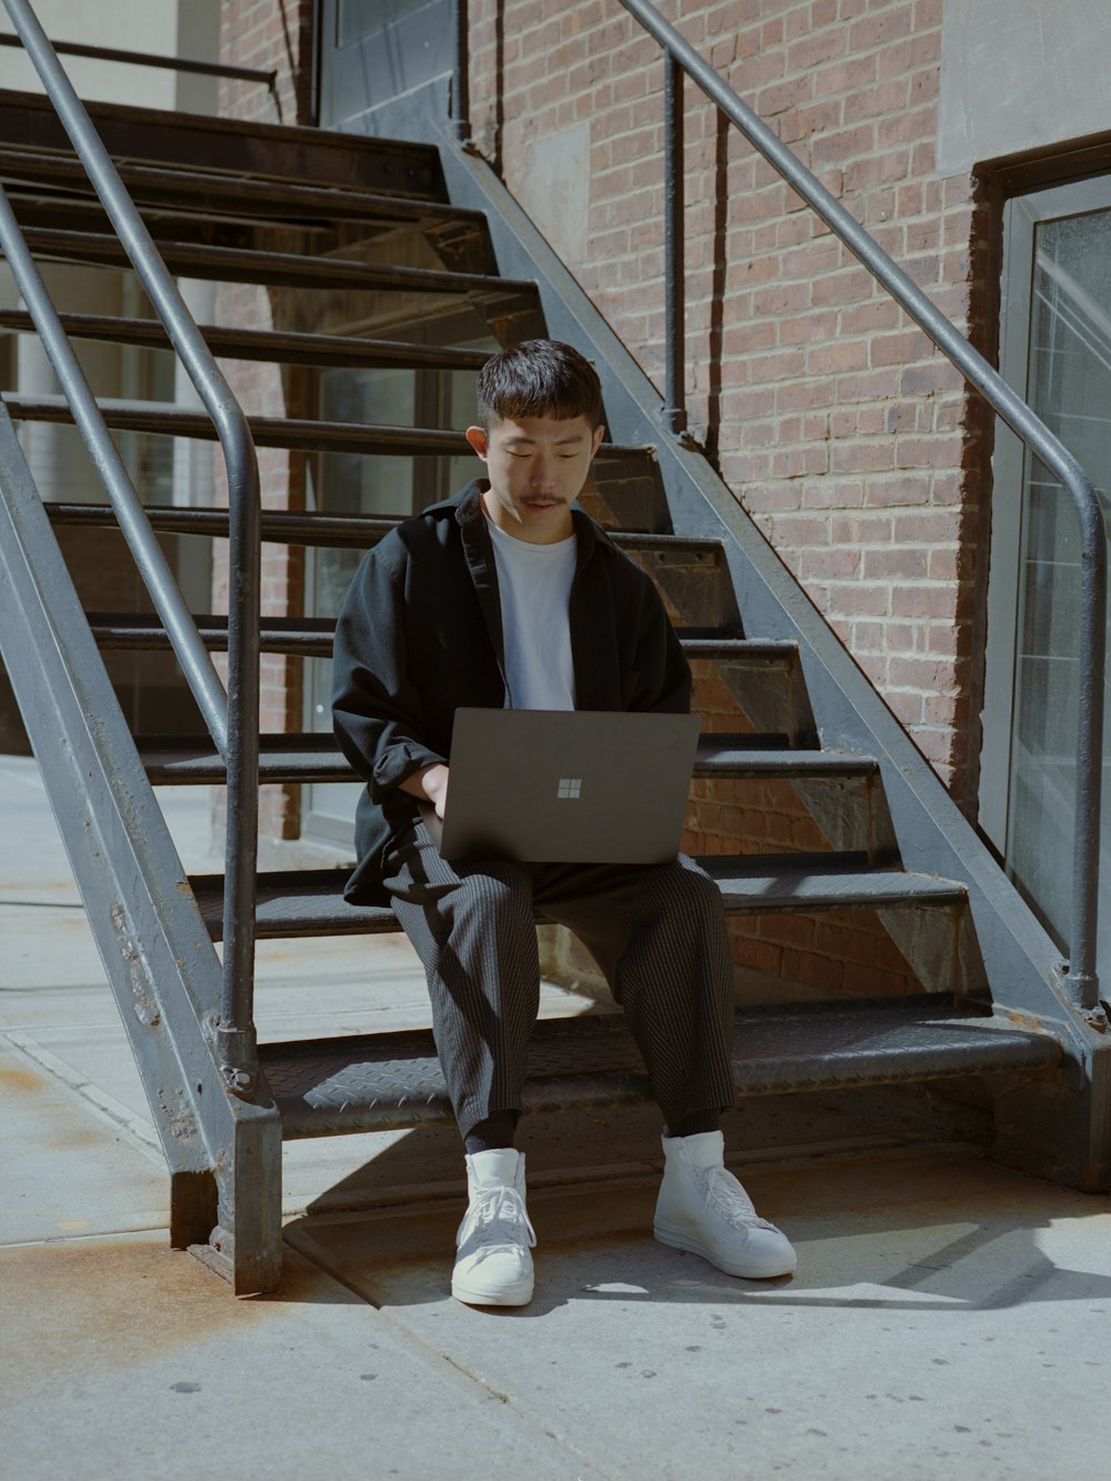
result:
[[(662, 388), (656, 43), (618, 0), (471, 10), (478, 147), (527, 200), (530, 144), (588, 123), (575, 271)], [(970, 181), (935, 170), (941, 0), (661, 10), (958, 327), (984, 330)], [(981, 412), (693, 84), (686, 204), (692, 429), (963, 803), (976, 754)]]

